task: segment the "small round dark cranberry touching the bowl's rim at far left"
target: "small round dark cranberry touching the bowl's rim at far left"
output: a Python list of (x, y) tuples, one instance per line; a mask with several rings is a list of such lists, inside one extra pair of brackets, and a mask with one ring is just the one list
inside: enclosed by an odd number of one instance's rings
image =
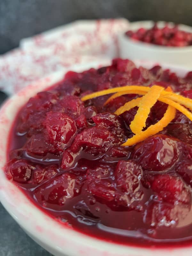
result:
[(13, 159), (7, 163), (5, 173), (10, 180), (18, 183), (26, 183), (31, 178), (35, 167), (24, 159)]

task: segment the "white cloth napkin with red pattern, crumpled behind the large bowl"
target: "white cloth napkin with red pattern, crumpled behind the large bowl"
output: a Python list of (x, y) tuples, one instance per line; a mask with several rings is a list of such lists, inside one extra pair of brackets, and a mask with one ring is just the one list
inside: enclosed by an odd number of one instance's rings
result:
[(0, 56), (0, 90), (13, 94), (38, 78), (74, 65), (100, 63), (118, 57), (117, 36), (129, 21), (81, 20), (37, 36)]

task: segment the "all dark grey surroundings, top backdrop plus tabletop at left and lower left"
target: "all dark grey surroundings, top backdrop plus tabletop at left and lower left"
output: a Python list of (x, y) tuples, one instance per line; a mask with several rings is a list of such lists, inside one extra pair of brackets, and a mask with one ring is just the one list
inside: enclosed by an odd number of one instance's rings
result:
[[(192, 26), (192, 0), (0, 0), (0, 54), (20, 39), (77, 19), (165, 20)], [(0, 104), (6, 98), (0, 92)], [(0, 256), (50, 256), (0, 204)]]

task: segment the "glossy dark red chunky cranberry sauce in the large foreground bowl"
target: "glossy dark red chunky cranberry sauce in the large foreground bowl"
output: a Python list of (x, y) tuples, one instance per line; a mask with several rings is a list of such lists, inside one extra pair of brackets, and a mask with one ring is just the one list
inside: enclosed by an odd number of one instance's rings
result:
[[(165, 129), (132, 147), (129, 125), (137, 108), (114, 111), (136, 95), (85, 103), (83, 95), (126, 84), (158, 84), (192, 96), (184, 78), (130, 60), (68, 72), (59, 85), (37, 93), (20, 110), (10, 134), (7, 177), (55, 219), (85, 234), (138, 246), (192, 241), (192, 124), (177, 112)], [(167, 105), (157, 102), (147, 126)]]

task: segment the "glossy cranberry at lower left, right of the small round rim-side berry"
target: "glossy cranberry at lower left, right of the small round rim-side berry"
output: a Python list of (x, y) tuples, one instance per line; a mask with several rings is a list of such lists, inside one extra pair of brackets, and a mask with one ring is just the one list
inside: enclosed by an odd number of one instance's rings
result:
[(75, 186), (75, 176), (64, 173), (38, 187), (34, 195), (38, 203), (45, 208), (49, 208), (51, 205), (63, 206), (68, 199), (75, 195)]

